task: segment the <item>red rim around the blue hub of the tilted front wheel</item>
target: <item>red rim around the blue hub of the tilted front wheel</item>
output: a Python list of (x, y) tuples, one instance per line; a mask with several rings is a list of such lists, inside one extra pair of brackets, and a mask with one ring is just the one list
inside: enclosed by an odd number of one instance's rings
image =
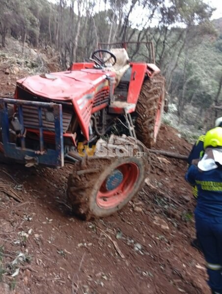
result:
[[(110, 181), (112, 174), (116, 171), (118, 174), (122, 174), (121, 182), (117, 183), (117, 186), (112, 190), (109, 190), (107, 188), (107, 183)], [(104, 209), (110, 209), (119, 205), (129, 196), (139, 177), (139, 168), (136, 163), (130, 162), (118, 166), (113, 173), (107, 176), (96, 195), (97, 205)], [(113, 178), (112, 181), (115, 182), (116, 179)]]

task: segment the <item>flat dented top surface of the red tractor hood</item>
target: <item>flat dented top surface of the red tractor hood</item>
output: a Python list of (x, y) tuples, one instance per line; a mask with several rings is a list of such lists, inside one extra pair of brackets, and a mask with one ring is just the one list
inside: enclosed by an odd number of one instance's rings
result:
[(106, 79), (102, 70), (75, 70), (28, 76), (17, 81), (30, 92), (53, 100), (80, 98)]

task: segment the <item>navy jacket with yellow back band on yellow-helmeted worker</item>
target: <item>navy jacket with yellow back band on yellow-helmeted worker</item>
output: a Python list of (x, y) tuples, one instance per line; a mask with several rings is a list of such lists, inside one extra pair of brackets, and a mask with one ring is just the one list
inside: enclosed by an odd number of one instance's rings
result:
[(191, 165), (185, 179), (198, 189), (195, 214), (222, 218), (222, 168), (199, 172)]

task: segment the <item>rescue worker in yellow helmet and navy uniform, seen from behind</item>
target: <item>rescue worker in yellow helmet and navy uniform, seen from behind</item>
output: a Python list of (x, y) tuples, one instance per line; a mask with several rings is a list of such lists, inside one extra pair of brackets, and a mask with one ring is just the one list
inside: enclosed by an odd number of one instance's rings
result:
[(197, 186), (195, 226), (209, 275), (212, 294), (222, 294), (222, 127), (209, 130), (204, 156), (191, 165), (186, 180)]

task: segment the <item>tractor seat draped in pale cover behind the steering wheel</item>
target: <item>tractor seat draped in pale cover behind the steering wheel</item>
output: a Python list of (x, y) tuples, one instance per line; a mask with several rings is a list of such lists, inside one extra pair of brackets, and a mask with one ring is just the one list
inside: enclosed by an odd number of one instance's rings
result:
[(118, 86), (123, 74), (130, 67), (129, 56), (124, 48), (113, 48), (110, 50), (116, 57), (116, 63), (110, 68), (112, 72), (115, 72), (115, 87)]

